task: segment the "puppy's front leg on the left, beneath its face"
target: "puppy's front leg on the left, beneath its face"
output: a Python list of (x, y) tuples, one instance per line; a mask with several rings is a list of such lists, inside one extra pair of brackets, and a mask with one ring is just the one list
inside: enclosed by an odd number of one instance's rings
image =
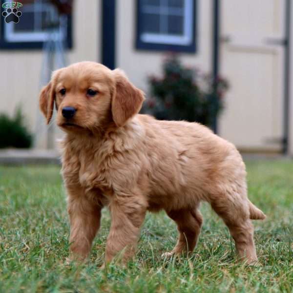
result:
[(68, 193), (70, 219), (70, 258), (83, 261), (88, 256), (92, 241), (100, 228), (102, 207), (81, 190)]

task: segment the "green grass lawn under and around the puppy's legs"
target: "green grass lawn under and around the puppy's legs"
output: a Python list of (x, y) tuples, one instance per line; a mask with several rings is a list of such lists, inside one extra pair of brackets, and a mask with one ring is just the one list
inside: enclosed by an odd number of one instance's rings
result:
[(0, 167), (0, 292), (293, 292), (293, 162), (248, 162), (249, 197), (267, 214), (254, 221), (260, 265), (235, 263), (234, 243), (209, 205), (189, 258), (161, 259), (177, 231), (148, 214), (135, 261), (103, 263), (104, 211), (90, 261), (66, 265), (69, 226), (59, 166)]

